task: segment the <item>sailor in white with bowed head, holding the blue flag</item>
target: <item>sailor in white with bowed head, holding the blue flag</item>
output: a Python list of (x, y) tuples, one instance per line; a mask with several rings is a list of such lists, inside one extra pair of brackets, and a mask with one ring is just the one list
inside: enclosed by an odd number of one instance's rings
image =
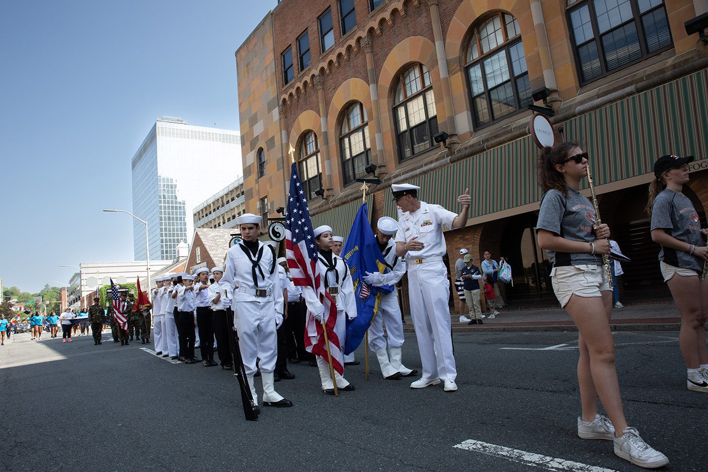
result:
[[(382, 274), (367, 272), (364, 282), (375, 287), (384, 285), (394, 286), (406, 273), (406, 262), (396, 255), (396, 243), (392, 236), (398, 230), (398, 222), (391, 217), (381, 217), (376, 224), (376, 242), (384, 255), (384, 263), (389, 272)], [(404, 343), (403, 321), (398, 303), (398, 293), (395, 287), (392, 292), (384, 294), (379, 304), (379, 311), (374, 317), (369, 328), (369, 348), (374, 352), (381, 366), (384, 379), (398, 379), (400, 376), (408, 377), (418, 374), (401, 363), (401, 347)], [(388, 333), (384, 339), (384, 323)]]

